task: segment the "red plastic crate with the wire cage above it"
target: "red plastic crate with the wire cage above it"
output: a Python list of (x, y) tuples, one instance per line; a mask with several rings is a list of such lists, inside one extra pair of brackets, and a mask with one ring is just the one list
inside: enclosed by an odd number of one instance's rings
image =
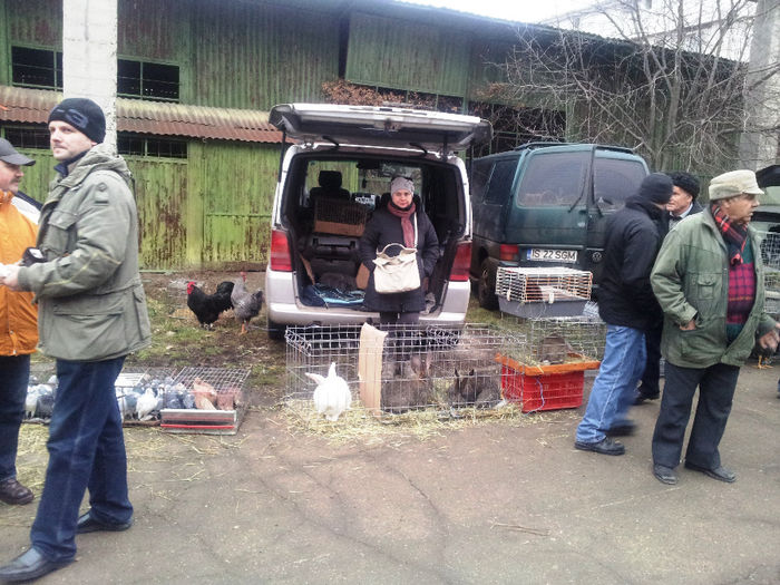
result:
[(518, 319), (528, 343), (499, 358), (507, 400), (524, 412), (577, 408), (583, 403), (585, 371), (598, 369), (606, 323), (598, 316)]

